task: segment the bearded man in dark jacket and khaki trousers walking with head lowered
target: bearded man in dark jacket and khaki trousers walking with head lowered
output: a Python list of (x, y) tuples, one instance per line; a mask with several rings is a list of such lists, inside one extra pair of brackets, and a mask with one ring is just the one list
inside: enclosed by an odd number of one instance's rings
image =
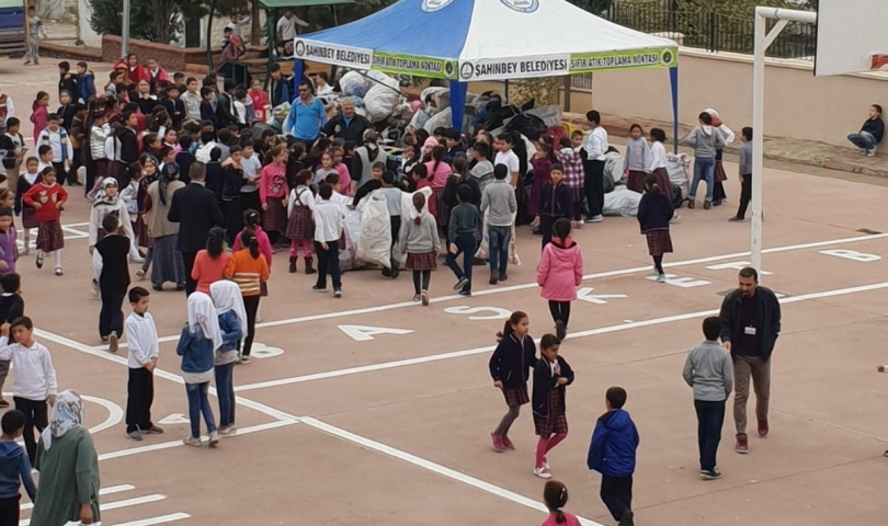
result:
[(755, 390), (759, 436), (767, 436), (767, 401), (771, 397), (771, 353), (781, 333), (781, 304), (773, 290), (759, 286), (759, 272), (740, 271), (739, 287), (721, 302), (721, 342), (733, 359), (733, 421), (739, 454), (749, 453), (747, 400), (749, 378)]

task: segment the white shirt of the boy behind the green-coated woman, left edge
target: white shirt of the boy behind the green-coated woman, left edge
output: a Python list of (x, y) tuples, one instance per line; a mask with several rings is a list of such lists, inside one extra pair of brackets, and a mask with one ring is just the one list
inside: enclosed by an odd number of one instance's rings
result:
[(9, 338), (0, 338), (0, 359), (11, 359), (15, 368), (12, 393), (27, 400), (43, 401), (58, 391), (56, 368), (49, 350), (34, 341), (33, 347), (20, 343), (10, 345)]

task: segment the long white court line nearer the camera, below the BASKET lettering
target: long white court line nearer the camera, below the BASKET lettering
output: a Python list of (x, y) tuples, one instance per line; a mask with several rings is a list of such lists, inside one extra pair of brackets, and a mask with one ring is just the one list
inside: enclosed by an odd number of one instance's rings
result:
[[(872, 285), (863, 285), (859, 287), (849, 287), (849, 288), (840, 288), (835, 290), (824, 290), (821, 293), (811, 293), (811, 294), (802, 294), (798, 296), (792, 296), (788, 298), (781, 298), (781, 304), (796, 304), (799, 301), (806, 301), (810, 299), (820, 299), (820, 298), (829, 298), (833, 296), (844, 296), (849, 294), (857, 294), (857, 293), (865, 293), (869, 290), (877, 290), (888, 288), (888, 282), (884, 283), (876, 283)], [(684, 315), (674, 315), (674, 316), (665, 316), (662, 318), (653, 318), (650, 320), (641, 320), (641, 321), (633, 321), (630, 323), (621, 323), (618, 325), (610, 325), (610, 327), (602, 327), (599, 329), (589, 329), (585, 331), (578, 331), (568, 334), (568, 340), (585, 338), (585, 336), (594, 336), (597, 334), (607, 334), (611, 332), (618, 332), (618, 331), (628, 331), (630, 329), (638, 329), (641, 327), (651, 327), (651, 325), (660, 325), (664, 323), (672, 323), (676, 321), (684, 321), (684, 320), (692, 320), (695, 318), (703, 318), (706, 316), (714, 316), (718, 315), (719, 309), (710, 309), (710, 310), (701, 310), (697, 312), (686, 312)], [(537, 339), (536, 342), (538, 343), (539, 340)], [(278, 380), (269, 380), (269, 381), (260, 381), (257, 384), (248, 384), (243, 386), (235, 387), (235, 391), (251, 391), (255, 389), (266, 389), (270, 387), (280, 387), (280, 386), (287, 386), (291, 384), (303, 384), (306, 381), (316, 381), (316, 380), (325, 380), (328, 378), (338, 378), (340, 376), (350, 376), (350, 375), (357, 375), (362, 373), (372, 373), (376, 370), (385, 370), (385, 369), (394, 369), (397, 367), (407, 367), (411, 365), (420, 365), (420, 364), (428, 364), (431, 362), (441, 362), (444, 359), (453, 359), (453, 358), (462, 358), (464, 356), (473, 356), (476, 354), (483, 354), (483, 353), (491, 353), (493, 350), (497, 348), (496, 345), (486, 345), (482, 347), (475, 347), (475, 348), (467, 348), (464, 351), (455, 351), (451, 353), (442, 353), (442, 354), (433, 354), (431, 356), (420, 356), (417, 358), (407, 358), (407, 359), (398, 359), (395, 362), (385, 362), (382, 364), (373, 364), (373, 365), (363, 365), (360, 367), (350, 367), (348, 369), (339, 369), (339, 370), (329, 370), (326, 373), (315, 373), (312, 375), (304, 375), (304, 376), (296, 376), (293, 378), (281, 378)]]

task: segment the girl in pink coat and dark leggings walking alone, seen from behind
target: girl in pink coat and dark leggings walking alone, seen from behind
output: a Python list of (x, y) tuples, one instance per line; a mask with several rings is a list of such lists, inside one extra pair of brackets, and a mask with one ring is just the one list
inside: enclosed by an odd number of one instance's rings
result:
[(549, 302), (559, 340), (567, 336), (570, 302), (577, 299), (577, 287), (583, 283), (583, 252), (570, 238), (570, 219), (561, 218), (553, 226), (553, 240), (543, 249), (536, 267), (539, 295)]

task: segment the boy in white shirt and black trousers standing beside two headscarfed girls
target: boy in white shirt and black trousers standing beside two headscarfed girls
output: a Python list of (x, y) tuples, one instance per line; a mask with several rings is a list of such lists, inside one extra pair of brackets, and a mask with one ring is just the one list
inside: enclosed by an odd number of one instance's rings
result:
[(148, 312), (150, 293), (143, 287), (129, 289), (133, 313), (126, 317), (124, 332), (129, 347), (126, 365), (129, 367), (126, 398), (126, 437), (141, 442), (143, 434), (157, 435), (163, 430), (151, 423), (151, 403), (155, 400), (155, 367), (160, 355), (155, 319)]

